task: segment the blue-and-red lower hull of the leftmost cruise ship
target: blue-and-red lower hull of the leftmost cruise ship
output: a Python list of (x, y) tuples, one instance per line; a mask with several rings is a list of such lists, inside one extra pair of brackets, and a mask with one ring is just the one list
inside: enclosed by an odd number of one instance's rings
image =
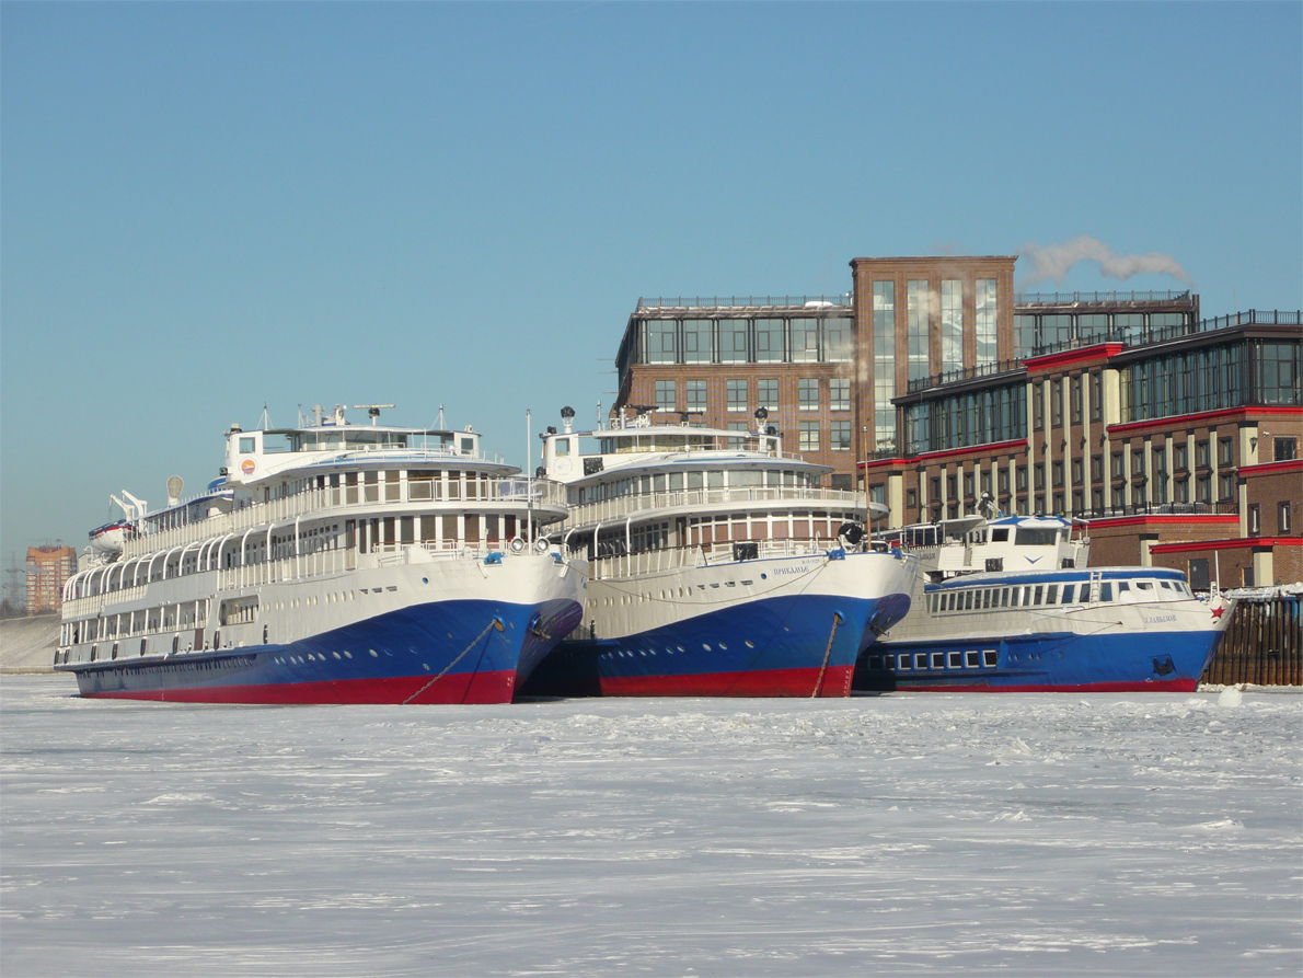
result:
[(284, 644), (69, 666), (83, 696), (190, 703), (509, 703), (577, 601), (434, 601)]

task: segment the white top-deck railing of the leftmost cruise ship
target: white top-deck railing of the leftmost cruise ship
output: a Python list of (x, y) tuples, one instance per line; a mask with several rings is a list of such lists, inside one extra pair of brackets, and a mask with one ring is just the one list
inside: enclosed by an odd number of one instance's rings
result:
[[(394, 494), (383, 492), (391, 485), (399, 492)], [(426, 510), (433, 512), (473, 510), (477, 506), (494, 503), (532, 505), (539, 510), (550, 509), (554, 511), (566, 506), (566, 488), (551, 480), (526, 480), (521, 476), (519, 479), (494, 479), (489, 480), (487, 484), (466, 482), (468, 489), (472, 485), (477, 488), (473, 496), (459, 493), (438, 498), (435, 485), (443, 486), (438, 480), (404, 480), (394, 484), (386, 482), (384, 486), (379, 482), (369, 482), (360, 486), (314, 488), (279, 499), (250, 503), (232, 512), (214, 514), (194, 523), (141, 533), (124, 542), (120, 559), (145, 557), (188, 544), (199, 544), (212, 537), (242, 533), (272, 523), (292, 524), (293, 520), (306, 515), (327, 519), (335, 514), (377, 506), (396, 506), (401, 510), (417, 507), (422, 512)], [(448, 482), (447, 485), (460, 488), (460, 482)], [(394, 515), (404, 515), (404, 512), (399, 511)], [(556, 516), (559, 515), (556, 512)]]

